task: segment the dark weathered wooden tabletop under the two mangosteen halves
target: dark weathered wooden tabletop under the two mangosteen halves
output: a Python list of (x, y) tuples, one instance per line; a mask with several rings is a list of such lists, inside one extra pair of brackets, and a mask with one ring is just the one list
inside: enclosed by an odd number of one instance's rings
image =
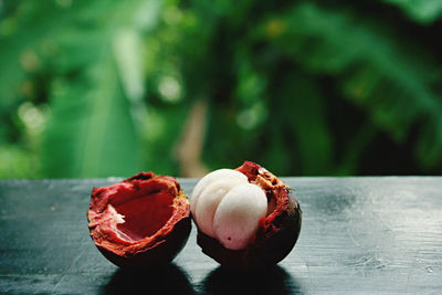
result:
[[(442, 294), (442, 178), (285, 178), (304, 211), (299, 240), (251, 274), (201, 253), (194, 226), (171, 265), (118, 270), (86, 221), (92, 188), (117, 180), (0, 181), (0, 293)], [(190, 194), (196, 181), (180, 182)]]

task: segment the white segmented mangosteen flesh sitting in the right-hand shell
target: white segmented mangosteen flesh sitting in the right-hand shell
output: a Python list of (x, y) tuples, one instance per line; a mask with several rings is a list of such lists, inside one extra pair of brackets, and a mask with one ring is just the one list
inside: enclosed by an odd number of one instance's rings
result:
[(233, 169), (204, 176), (194, 187), (190, 210), (200, 231), (230, 250), (248, 246), (267, 212), (265, 192)]

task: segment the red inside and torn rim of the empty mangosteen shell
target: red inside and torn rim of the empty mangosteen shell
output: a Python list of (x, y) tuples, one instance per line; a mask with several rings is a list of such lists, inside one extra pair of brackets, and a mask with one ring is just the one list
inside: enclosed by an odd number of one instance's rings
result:
[(95, 188), (87, 211), (95, 244), (120, 256), (164, 243), (175, 224), (189, 215), (189, 202), (178, 181), (152, 172)]

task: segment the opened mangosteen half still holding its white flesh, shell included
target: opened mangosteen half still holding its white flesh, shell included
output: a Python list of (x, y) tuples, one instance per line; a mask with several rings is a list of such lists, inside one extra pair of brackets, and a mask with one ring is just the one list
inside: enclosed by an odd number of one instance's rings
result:
[(204, 176), (190, 208), (202, 252), (235, 268), (275, 265), (301, 232), (302, 211), (292, 189), (251, 161)]

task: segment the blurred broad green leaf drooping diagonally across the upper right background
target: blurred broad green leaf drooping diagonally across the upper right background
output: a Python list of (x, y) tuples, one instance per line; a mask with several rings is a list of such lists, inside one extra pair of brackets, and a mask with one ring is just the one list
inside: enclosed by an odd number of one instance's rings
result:
[[(274, 42), (282, 50), (308, 72), (338, 77), (343, 94), (396, 140), (403, 140), (411, 124), (427, 116), (424, 136), (417, 143), (427, 148), (418, 150), (419, 157), (427, 167), (441, 161), (442, 141), (423, 143), (439, 138), (434, 126), (442, 126), (442, 101), (435, 91), (442, 72), (429, 52), (407, 44), (404, 36), (394, 39), (370, 20), (311, 3), (296, 6), (276, 22), (283, 31)], [(272, 20), (265, 28), (270, 25)]]

